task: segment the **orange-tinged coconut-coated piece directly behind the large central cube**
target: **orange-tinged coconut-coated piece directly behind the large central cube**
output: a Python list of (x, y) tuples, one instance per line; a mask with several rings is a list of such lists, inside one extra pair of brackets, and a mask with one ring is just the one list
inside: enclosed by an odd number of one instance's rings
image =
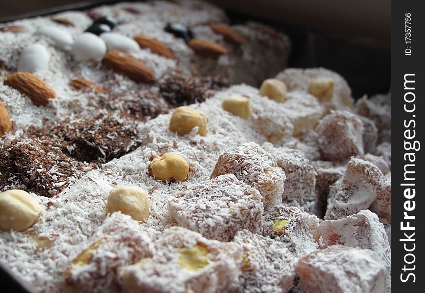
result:
[(247, 143), (221, 153), (211, 178), (227, 173), (257, 189), (265, 210), (282, 202), (285, 174), (276, 159), (257, 144)]

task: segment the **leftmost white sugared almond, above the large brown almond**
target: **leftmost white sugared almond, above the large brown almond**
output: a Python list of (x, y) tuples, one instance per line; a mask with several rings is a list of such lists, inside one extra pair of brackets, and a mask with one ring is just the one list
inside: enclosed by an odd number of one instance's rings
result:
[(18, 71), (35, 72), (37, 70), (48, 70), (49, 60), (49, 53), (43, 45), (29, 45), (22, 50)]

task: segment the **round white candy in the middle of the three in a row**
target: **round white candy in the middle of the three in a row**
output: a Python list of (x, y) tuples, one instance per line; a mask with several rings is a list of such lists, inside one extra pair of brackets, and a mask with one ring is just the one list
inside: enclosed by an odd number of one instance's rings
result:
[(95, 34), (84, 33), (75, 40), (72, 50), (77, 61), (100, 61), (106, 54), (106, 44)]

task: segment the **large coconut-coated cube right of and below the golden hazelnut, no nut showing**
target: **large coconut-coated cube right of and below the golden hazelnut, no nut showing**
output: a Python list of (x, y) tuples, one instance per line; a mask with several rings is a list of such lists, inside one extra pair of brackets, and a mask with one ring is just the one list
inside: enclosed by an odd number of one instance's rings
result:
[(209, 239), (231, 241), (241, 229), (259, 232), (263, 204), (258, 190), (225, 174), (178, 192), (168, 210), (181, 227)]

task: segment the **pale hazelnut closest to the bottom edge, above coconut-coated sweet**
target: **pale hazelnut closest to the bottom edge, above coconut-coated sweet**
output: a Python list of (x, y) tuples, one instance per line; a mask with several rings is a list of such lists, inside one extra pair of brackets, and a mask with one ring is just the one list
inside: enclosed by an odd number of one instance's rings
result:
[(136, 221), (145, 222), (149, 217), (149, 199), (138, 186), (119, 186), (109, 192), (107, 212), (121, 211)]

